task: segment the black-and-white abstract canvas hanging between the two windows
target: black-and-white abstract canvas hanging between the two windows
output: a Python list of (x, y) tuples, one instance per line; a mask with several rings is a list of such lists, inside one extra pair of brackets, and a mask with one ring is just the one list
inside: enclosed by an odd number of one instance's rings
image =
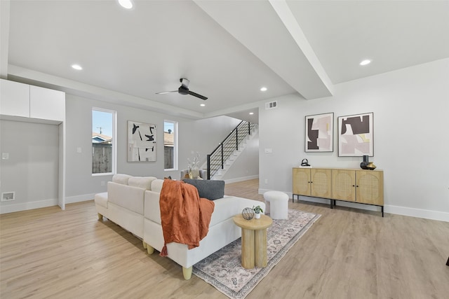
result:
[(156, 125), (128, 120), (128, 162), (154, 162), (156, 148)]

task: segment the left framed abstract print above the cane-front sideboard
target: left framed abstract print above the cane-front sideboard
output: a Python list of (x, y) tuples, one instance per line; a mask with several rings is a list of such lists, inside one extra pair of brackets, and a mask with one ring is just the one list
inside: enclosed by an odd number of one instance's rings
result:
[(306, 116), (305, 151), (327, 152), (333, 149), (334, 113)]

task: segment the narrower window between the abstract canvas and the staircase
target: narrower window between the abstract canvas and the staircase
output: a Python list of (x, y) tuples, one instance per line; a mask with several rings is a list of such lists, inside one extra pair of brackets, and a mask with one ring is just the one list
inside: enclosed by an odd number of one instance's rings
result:
[(163, 122), (163, 158), (164, 169), (177, 169), (177, 122)]

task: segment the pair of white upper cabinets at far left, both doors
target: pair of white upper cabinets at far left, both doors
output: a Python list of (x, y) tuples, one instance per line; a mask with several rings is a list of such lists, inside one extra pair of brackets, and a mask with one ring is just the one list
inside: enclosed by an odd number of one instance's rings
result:
[(65, 92), (0, 79), (0, 114), (65, 121)]

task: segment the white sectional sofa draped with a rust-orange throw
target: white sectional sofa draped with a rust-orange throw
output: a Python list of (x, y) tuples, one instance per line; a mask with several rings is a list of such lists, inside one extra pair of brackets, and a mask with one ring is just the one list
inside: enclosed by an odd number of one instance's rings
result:
[[(105, 216), (140, 237), (149, 254), (154, 249), (161, 251), (164, 245), (159, 207), (162, 186), (163, 180), (153, 176), (114, 175), (112, 182), (108, 182), (107, 193), (95, 195), (99, 219)], [(200, 197), (203, 197), (201, 193)], [(214, 203), (208, 235), (201, 240), (199, 247), (188, 249), (185, 244), (167, 244), (168, 258), (182, 266), (185, 279), (192, 276), (195, 263), (241, 237), (241, 229), (232, 221), (234, 215), (241, 213), (245, 207), (255, 205), (265, 209), (264, 202), (227, 195), (214, 200)]]

